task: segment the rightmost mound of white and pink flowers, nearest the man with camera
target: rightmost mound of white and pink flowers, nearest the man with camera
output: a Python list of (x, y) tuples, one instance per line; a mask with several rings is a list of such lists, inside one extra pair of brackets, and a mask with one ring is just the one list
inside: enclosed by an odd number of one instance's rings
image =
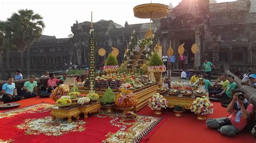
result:
[(197, 99), (191, 104), (190, 110), (198, 115), (208, 115), (213, 113), (213, 104), (207, 97), (197, 97)]

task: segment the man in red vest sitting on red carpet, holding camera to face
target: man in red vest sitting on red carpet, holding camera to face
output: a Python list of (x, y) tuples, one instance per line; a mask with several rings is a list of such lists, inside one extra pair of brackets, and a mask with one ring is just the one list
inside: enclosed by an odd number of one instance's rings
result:
[(235, 89), (232, 102), (227, 106), (227, 112), (230, 114), (226, 118), (209, 118), (206, 120), (206, 125), (209, 128), (218, 128), (221, 134), (234, 136), (246, 126), (253, 114), (253, 105), (245, 99), (241, 89)]

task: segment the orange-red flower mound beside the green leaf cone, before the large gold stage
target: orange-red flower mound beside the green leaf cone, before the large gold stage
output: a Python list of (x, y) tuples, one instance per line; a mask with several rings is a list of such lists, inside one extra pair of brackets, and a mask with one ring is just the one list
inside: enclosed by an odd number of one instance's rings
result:
[(114, 103), (121, 108), (132, 108), (138, 103), (138, 99), (133, 92), (125, 88), (121, 88), (121, 93), (117, 95)]

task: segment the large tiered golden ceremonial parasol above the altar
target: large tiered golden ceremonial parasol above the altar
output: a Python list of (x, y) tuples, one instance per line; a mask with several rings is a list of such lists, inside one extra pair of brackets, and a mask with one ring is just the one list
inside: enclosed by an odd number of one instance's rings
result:
[(169, 13), (169, 6), (165, 4), (159, 3), (147, 3), (147, 4), (140, 4), (133, 8), (134, 17), (138, 18), (150, 18), (150, 27), (147, 31), (147, 34), (151, 34), (151, 19), (166, 17)]

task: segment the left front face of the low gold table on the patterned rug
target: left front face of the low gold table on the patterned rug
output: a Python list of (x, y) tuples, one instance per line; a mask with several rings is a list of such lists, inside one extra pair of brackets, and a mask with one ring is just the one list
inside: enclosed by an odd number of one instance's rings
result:
[(68, 123), (72, 122), (72, 117), (79, 119), (80, 110), (76, 106), (71, 106), (68, 109), (59, 109), (59, 107), (54, 107), (51, 110), (51, 118), (55, 120), (55, 118), (68, 118)]

